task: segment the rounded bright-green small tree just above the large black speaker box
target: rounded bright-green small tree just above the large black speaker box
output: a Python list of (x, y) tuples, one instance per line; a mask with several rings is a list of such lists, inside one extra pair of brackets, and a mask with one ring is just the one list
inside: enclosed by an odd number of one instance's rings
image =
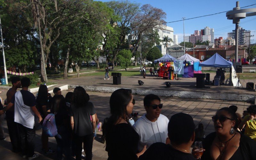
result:
[(130, 50), (121, 50), (117, 55), (117, 62), (121, 67), (128, 67), (131, 64), (132, 52)]

